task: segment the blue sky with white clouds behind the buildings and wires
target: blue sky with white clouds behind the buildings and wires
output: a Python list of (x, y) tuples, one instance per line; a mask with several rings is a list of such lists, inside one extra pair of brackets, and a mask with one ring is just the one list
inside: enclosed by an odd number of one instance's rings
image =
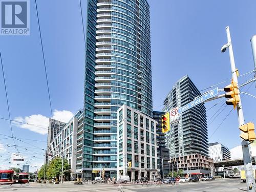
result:
[[(87, 1), (81, 2), (86, 24)], [(230, 27), (240, 74), (253, 70), (250, 38), (256, 34), (255, 1), (148, 0), (148, 3), (154, 110), (162, 110), (165, 96), (186, 74), (199, 90), (231, 78), (229, 52), (220, 52), (227, 42), (226, 26)], [(79, 6), (79, 0), (37, 0), (53, 117), (62, 121), (68, 121), (83, 107), (85, 45)], [(20, 146), (18, 150), (24, 162), (31, 165), (32, 172), (43, 163), (42, 149), (46, 148), (48, 118), (52, 116), (40, 46), (35, 2), (31, 0), (30, 35), (0, 36), (0, 51), (11, 119), (39, 125), (12, 123), (14, 137), (22, 140), (15, 140)], [(242, 84), (251, 78), (252, 74), (248, 74), (238, 80)], [(222, 83), (218, 88), (228, 84)], [(256, 95), (255, 84), (251, 84), (243, 91)], [(8, 119), (2, 73), (0, 101), (0, 118)], [(256, 122), (255, 101), (247, 95), (242, 97), (246, 122)], [(225, 99), (219, 99), (205, 103), (209, 142), (221, 142), (237, 156), (241, 154), (237, 112), (231, 110), (232, 106), (223, 105), (224, 102)], [(0, 135), (0, 168), (17, 166), (17, 162), (10, 161), (17, 153), (10, 145), (13, 140), (7, 138), (11, 135), (10, 123), (3, 119), (0, 122), (0, 134), (3, 134)]]

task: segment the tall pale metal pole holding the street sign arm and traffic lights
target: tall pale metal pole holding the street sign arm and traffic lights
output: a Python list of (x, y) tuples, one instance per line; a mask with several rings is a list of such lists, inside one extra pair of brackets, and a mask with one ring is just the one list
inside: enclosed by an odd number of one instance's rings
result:
[[(226, 33), (227, 33), (227, 46), (229, 50), (232, 78), (233, 78), (233, 81), (238, 84), (238, 77), (236, 74), (236, 65), (234, 63), (234, 56), (233, 56), (233, 49), (232, 49), (232, 42), (231, 42), (229, 27), (226, 27)], [(238, 123), (239, 123), (239, 126), (241, 126), (241, 125), (244, 125), (245, 122), (244, 122), (244, 114), (243, 114), (242, 101), (241, 101), (240, 94), (239, 94), (239, 98), (240, 98), (240, 102), (237, 104), (237, 113), (238, 113)], [(251, 163), (251, 158), (249, 153), (248, 142), (242, 139), (241, 145), (243, 150), (247, 191), (248, 192), (255, 191), (255, 180), (252, 173), (252, 163)]]

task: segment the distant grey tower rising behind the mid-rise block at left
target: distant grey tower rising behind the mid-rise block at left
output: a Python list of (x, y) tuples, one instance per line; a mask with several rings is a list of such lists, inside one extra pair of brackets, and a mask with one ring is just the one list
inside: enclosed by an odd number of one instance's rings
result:
[[(53, 138), (55, 138), (59, 131), (65, 126), (66, 123), (55, 120), (49, 119), (49, 126), (48, 126), (48, 137), (47, 137), (47, 146), (50, 146)], [(48, 154), (45, 154), (45, 164), (49, 163)]]

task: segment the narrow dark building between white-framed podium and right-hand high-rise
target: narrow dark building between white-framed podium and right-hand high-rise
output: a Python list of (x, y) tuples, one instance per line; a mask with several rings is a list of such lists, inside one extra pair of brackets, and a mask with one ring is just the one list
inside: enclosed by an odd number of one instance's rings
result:
[(169, 159), (169, 150), (165, 145), (165, 134), (162, 133), (162, 116), (164, 112), (153, 111), (153, 119), (158, 122), (156, 125), (157, 128), (157, 168), (159, 170), (159, 175), (161, 178), (165, 178), (170, 172), (170, 163), (168, 163)]

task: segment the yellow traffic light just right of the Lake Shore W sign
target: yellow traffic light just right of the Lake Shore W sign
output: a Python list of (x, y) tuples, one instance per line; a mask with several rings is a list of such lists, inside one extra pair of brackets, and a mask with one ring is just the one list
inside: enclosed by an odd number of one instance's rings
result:
[(224, 88), (224, 91), (227, 92), (225, 97), (228, 98), (228, 100), (226, 100), (226, 104), (233, 105), (234, 109), (236, 109), (236, 106), (240, 101), (238, 83), (232, 80), (231, 84)]

